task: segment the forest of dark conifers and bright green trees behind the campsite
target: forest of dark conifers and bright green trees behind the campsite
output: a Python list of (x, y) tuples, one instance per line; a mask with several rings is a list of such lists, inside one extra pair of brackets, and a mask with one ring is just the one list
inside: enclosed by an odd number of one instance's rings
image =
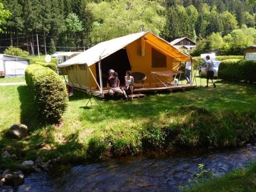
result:
[[(137, 33), (140, 25), (172, 41), (187, 36), (201, 51), (241, 54), (256, 44), (254, 0), (0, 0), (10, 11), (0, 22), (0, 52), (9, 46), (85, 50), (101, 41)], [(0, 13), (1, 17), (1, 13)]]

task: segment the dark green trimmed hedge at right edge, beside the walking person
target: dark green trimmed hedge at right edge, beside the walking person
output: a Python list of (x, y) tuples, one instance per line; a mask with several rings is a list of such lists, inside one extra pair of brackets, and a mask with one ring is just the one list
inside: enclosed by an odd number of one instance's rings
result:
[(218, 77), (229, 81), (256, 82), (256, 61), (228, 59), (220, 63)]

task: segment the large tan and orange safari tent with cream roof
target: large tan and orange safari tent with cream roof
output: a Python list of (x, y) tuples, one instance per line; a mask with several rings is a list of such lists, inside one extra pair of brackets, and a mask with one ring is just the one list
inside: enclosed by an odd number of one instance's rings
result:
[[(145, 74), (147, 78), (143, 88), (134, 92), (161, 87), (173, 89), (175, 86), (169, 86), (170, 82), (179, 72), (180, 62), (185, 61), (192, 61), (190, 55), (150, 31), (143, 31), (101, 42), (61, 63), (58, 68), (63, 75), (68, 75), (66, 83), (69, 86), (103, 96), (107, 93), (109, 69), (118, 73), (121, 86), (124, 85), (126, 70)], [(195, 86), (183, 85), (180, 89), (186, 87)]]

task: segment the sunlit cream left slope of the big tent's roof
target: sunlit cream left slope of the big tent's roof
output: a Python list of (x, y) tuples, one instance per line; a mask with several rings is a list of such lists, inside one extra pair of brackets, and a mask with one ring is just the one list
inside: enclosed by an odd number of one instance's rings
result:
[(123, 37), (111, 39), (109, 41), (101, 42), (90, 49), (76, 55), (75, 57), (61, 63), (58, 67), (67, 67), (74, 64), (87, 64), (87, 66), (91, 66), (94, 63), (99, 61), (99, 57), (104, 59), (108, 57), (108, 55), (115, 53), (116, 51), (122, 49), (126, 45), (134, 42), (135, 40), (143, 37), (145, 34), (149, 33), (140, 32), (136, 34), (130, 34)]

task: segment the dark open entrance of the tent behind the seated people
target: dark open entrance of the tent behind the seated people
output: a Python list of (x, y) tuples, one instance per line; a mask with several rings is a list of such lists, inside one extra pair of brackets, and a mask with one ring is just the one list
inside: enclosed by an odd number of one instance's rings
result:
[[(96, 68), (99, 68), (99, 63), (95, 63)], [(101, 59), (101, 71), (102, 71), (102, 86), (107, 86), (108, 70), (114, 69), (118, 73), (120, 80), (120, 86), (124, 85), (124, 76), (126, 70), (131, 70), (129, 58), (126, 53), (126, 49), (118, 50), (117, 52), (109, 55), (108, 57)], [(100, 82), (99, 70), (96, 70), (97, 82)]]

